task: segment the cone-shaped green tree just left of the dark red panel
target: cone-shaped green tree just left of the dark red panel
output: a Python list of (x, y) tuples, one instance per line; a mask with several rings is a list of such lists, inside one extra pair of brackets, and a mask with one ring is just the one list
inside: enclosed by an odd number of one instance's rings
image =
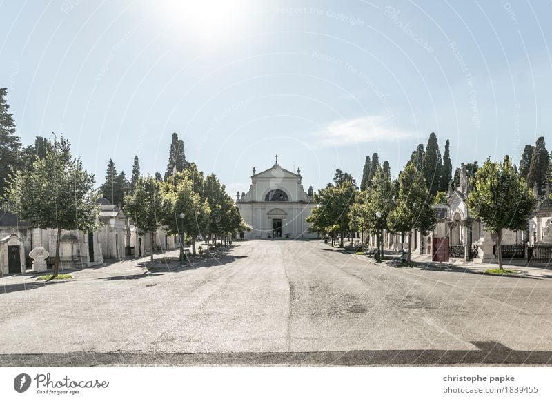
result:
[(437, 224), (437, 216), (431, 207), (433, 197), (426, 180), (415, 163), (409, 162), (399, 176), (399, 194), (396, 206), (387, 216), (391, 232), (408, 232), (408, 260), (411, 258), (412, 230), (430, 232)]

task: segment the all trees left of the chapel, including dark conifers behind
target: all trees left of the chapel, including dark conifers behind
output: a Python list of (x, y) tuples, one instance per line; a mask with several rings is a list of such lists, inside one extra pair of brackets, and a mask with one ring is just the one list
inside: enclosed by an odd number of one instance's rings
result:
[(57, 229), (53, 276), (59, 271), (61, 230), (97, 229), (100, 196), (123, 204), (139, 231), (149, 232), (152, 241), (161, 225), (171, 235), (185, 232), (194, 254), (199, 234), (213, 234), (216, 240), (248, 228), (218, 178), (204, 176), (194, 163), (186, 161), (184, 143), (177, 134), (172, 135), (165, 180), (159, 173), (155, 178), (141, 176), (135, 156), (128, 181), (124, 172), (117, 174), (110, 159), (106, 181), (98, 190), (94, 175), (86, 172), (80, 158), (72, 156), (70, 143), (63, 136), (54, 134), (52, 140), (37, 136), (33, 145), (21, 145), (6, 93), (5, 88), (0, 89), (1, 205), (31, 227)]

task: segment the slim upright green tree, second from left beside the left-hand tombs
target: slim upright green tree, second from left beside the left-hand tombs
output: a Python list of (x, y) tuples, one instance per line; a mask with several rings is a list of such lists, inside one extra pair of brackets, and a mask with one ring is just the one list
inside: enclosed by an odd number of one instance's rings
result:
[(161, 196), (161, 183), (152, 176), (140, 177), (135, 190), (124, 198), (124, 212), (141, 232), (150, 234), (150, 263), (153, 266), (154, 239), (157, 227), (168, 210)]

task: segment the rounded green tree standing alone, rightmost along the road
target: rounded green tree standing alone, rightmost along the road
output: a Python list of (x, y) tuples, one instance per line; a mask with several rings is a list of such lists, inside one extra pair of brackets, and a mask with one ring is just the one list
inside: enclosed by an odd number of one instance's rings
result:
[(486, 229), (495, 232), (498, 265), (502, 270), (502, 230), (526, 228), (535, 209), (535, 196), (525, 179), (515, 173), (508, 156), (502, 164), (487, 158), (471, 182), (473, 188), (466, 205)]

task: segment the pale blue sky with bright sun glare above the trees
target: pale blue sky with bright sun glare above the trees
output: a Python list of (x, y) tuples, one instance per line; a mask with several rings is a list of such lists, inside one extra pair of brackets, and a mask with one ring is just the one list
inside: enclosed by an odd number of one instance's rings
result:
[[(186, 3), (188, 3), (186, 5)], [(172, 132), (234, 196), (253, 167), (394, 175), (435, 132), (453, 165), (517, 163), (552, 126), (549, 1), (0, 0), (18, 134), (65, 134), (103, 182), (166, 169)]]

